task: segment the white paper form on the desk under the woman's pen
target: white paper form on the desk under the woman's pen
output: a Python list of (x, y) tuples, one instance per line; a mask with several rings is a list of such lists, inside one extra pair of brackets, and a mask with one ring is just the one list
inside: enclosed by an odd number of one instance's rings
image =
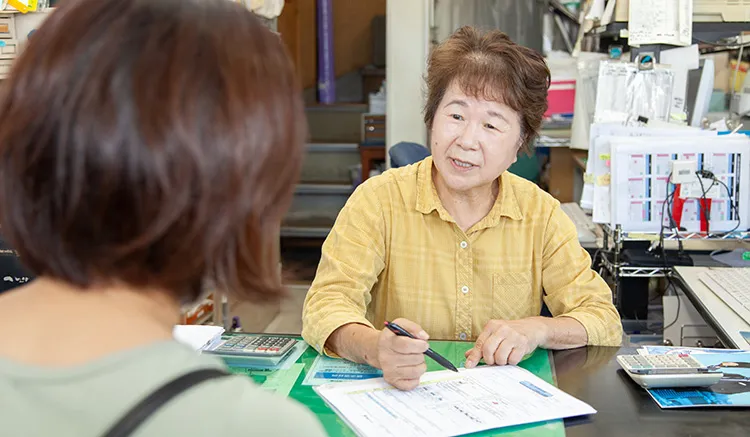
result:
[(402, 392), (382, 378), (315, 388), (365, 437), (456, 436), (594, 414), (584, 402), (514, 366), (429, 372)]

